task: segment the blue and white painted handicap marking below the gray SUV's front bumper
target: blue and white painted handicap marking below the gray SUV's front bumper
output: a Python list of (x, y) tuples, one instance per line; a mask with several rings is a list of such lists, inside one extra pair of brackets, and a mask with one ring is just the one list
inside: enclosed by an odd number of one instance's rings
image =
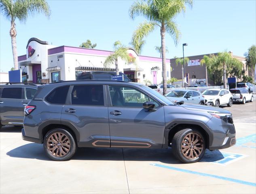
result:
[(200, 160), (201, 162), (212, 162), (214, 164), (227, 165), (242, 158), (247, 157), (244, 154), (235, 154), (229, 152), (220, 152), (219, 150), (205, 152), (205, 155)]

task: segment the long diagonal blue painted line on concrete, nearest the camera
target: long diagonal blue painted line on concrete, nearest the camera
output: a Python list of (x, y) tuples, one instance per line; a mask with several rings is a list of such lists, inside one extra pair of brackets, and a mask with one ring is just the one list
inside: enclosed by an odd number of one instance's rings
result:
[(197, 171), (190, 171), (190, 170), (186, 170), (186, 169), (180, 169), (180, 168), (170, 167), (170, 166), (156, 164), (156, 163), (153, 163), (153, 164), (150, 164), (150, 165), (153, 165), (155, 167), (161, 167), (161, 168), (165, 168), (165, 169), (170, 169), (170, 170), (174, 170), (174, 171), (180, 171), (180, 172), (183, 172), (183, 173), (200, 175), (200, 176), (204, 176), (204, 177), (212, 177), (212, 178), (221, 179), (221, 180), (224, 180), (224, 181), (231, 181), (231, 182), (234, 182), (234, 183), (239, 183), (239, 184), (243, 184), (243, 185), (248, 185), (248, 186), (256, 187), (256, 183), (252, 183), (252, 182), (248, 182), (248, 181), (242, 181), (242, 180), (239, 180), (239, 179), (232, 179), (232, 178), (222, 177), (222, 176), (218, 176), (218, 175), (211, 175), (211, 174), (207, 174), (207, 173), (200, 173), (200, 172), (197, 172)]

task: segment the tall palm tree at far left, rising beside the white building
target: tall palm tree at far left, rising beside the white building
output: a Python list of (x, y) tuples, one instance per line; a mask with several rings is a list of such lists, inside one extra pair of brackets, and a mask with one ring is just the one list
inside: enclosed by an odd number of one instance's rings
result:
[(29, 15), (44, 13), (47, 17), (51, 15), (51, 10), (45, 0), (0, 0), (0, 12), (11, 21), (10, 36), (13, 48), (13, 63), (15, 70), (18, 69), (18, 56), (16, 45), (15, 19), (25, 22)]

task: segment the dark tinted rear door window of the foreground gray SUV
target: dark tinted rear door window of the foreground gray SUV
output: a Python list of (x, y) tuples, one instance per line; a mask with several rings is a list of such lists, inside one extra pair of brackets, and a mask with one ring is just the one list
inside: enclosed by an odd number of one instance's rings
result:
[(71, 93), (71, 103), (76, 105), (104, 105), (102, 85), (74, 86)]

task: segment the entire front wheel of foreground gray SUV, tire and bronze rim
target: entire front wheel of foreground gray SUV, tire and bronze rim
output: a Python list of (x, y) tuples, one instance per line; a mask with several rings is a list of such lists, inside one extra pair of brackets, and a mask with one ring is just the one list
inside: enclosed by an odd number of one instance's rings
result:
[(198, 162), (205, 153), (205, 140), (196, 129), (182, 129), (178, 131), (171, 143), (174, 156), (184, 162)]

